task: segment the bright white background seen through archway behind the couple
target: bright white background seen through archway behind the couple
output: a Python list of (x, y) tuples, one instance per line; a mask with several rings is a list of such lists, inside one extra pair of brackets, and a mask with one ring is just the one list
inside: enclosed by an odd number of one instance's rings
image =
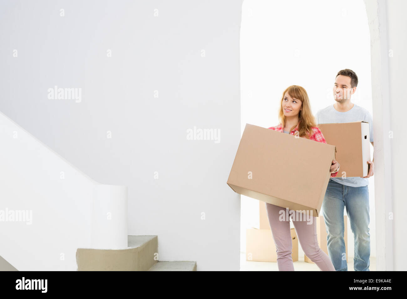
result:
[[(363, 0), (245, 0), (241, 26), (241, 133), (246, 123), (278, 124), (282, 92), (301, 85), (314, 115), (333, 105), (333, 83), (339, 70), (358, 75), (352, 103), (373, 116), (370, 32)], [(373, 155), (373, 147), (370, 148)], [(376, 256), (374, 176), (369, 178), (371, 256)], [(289, 178), (286, 178), (289, 179)], [(258, 226), (258, 201), (242, 196), (241, 251), (246, 229)], [(344, 210), (346, 214), (346, 210)], [(293, 224), (291, 222), (291, 227)], [(304, 258), (299, 249), (300, 260)], [(348, 220), (348, 258), (354, 239)]]

